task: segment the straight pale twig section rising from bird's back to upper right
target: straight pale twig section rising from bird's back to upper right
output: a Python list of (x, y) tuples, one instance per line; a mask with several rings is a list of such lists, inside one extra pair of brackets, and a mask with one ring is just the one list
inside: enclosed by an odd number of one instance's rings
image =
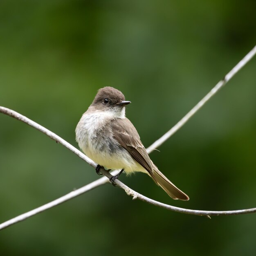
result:
[(147, 150), (148, 153), (152, 152), (154, 148), (158, 148), (164, 143), (164, 141), (169, 139), (175, 132), (177, 132), (177, 130), (184, 126), (184, 124), (186, 124), (186, 122), (189, 121), (189, 119), (193, 117), (193, 115), (195, 115), (195, 113), (198, 112), (198, 110), (200, 110), (200, 108), (202, 108), (202, 106), (204, 106), (204, 104), (209, 101), (209, 99), (211, 99), (211, 97), (213, 97), (220, 88), (222, 88), (242, 67), (244, 67), (255, 54), (256, 46), (254, 46), (254, 48), (241, 61), (239, 61), (238, 64), (233, 67), (232, 70), (230, 70), (226, 76), (220, 80), (207, 95), (204, 96), (203, 99), (201, 99), (179, 122), (177, 122), (173, 128), (168, 130), (168, 132), (166, 132), (161, 138), (157, 139), (157, 141), (150, 145)]

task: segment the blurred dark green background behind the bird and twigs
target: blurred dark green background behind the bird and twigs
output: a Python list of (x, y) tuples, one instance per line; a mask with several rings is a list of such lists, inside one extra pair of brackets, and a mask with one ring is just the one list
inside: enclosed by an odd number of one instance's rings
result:
[[(132, 101), (145, 146), (256, 43), (255, 1), (1, 1), (0, 105), (78, 147), (97, 90)], [(121, 180), (178, 207), (256, 207), (256, 59), (150, 157), (190, 197), (143, 173)], [(0, 222), (98, 176), (37, 130), (0, 115)], [(106, 184), (0, 231), (0, 255), (255, 255), (256, 215), (205, 217), (132, 201)]]

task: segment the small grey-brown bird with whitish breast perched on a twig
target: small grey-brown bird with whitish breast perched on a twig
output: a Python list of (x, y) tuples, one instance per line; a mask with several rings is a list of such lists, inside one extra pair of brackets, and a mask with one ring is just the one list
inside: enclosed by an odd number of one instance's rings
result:
[(150, 160), (137, 130), (125, 116), (128, 104), (130, 101), (119, 90), (101, 88), (76, 126), (79, 147), (98, 164), (98, 174), (101, 166), (121, 169), (110, 179), (112, 183), (123, 171), (127, 174), (140, 171), (147, 173), (171, 198), (189, 200)]

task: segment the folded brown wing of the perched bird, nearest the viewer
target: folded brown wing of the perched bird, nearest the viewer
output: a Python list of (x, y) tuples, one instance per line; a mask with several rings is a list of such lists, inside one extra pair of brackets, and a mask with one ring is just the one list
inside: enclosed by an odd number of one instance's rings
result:
[(116, 119), (111, 122), (111, 127), (113, 136), (119, 144), (152, 176), (152, 162), (132, 122), (127, 118)]

